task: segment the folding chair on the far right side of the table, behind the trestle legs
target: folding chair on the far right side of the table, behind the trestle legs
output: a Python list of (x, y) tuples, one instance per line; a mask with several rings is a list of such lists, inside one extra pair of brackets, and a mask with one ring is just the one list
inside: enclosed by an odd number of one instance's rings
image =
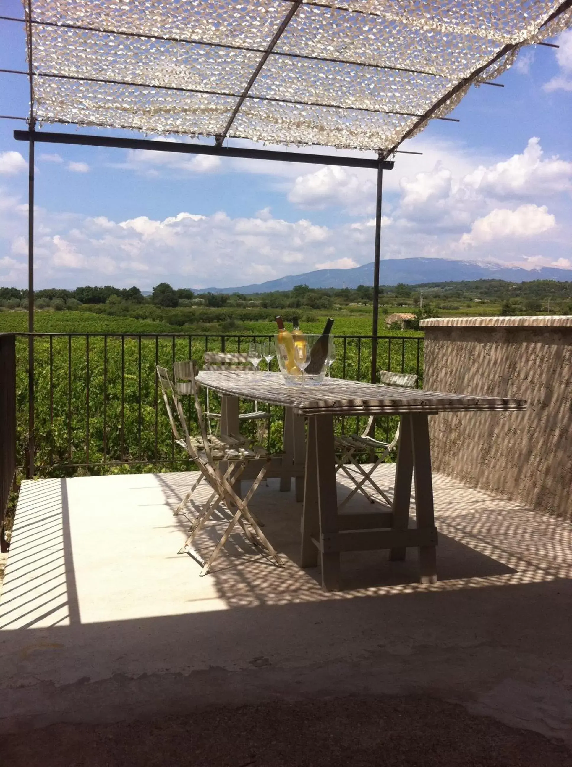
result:
[[(382, 384), (388, 384), (390, 386), (401, 386), (407, 388), (413, 388), (417, 384), (417, 376), (415, 374), (404, 373), (391, 373), (389, 370), (380, 371), (380, 381)], [(338, 511), (342, 509), (357, 492), (361, 492), (370, 503), (374, 503), (375, 499), (368, 494), (364, 485), (370, 485), (374, 488), (375, 492), (381, 495), (381, 498), (392, 508), (391, 500), (388, 498), (387, 493), (378, 486), (375, 482), (373, 475), (375, 469), (378, 468), (380, 463), (386, 456), (391, 453), (391, 450), (397, 445), (399, 440), (399, 430), (401, 422), (397, 425), (394, 438), (391, 442), (381, 442), (379, 439), (369, 436), (371, 427), (373, 426), (375, 416), (371, 416), (368, 420), (368, 425), (365, 427), (364, 432), (361, 434), (342, 434), (335, 438), (335, 450), (337, 465), (335, 467), (336, 472), (343, 471), (345, 475), (354, 482), (355, 487), (348, 493), (345, 499), (338, 504)], [(371, 453), (377, 454), (373, 465), (366, 471), (361, 463), (358, 463), (356, 456), (359, 455), (371, 455)], [(355, 473), (352, 472), (348, 464), (351, 465)]]

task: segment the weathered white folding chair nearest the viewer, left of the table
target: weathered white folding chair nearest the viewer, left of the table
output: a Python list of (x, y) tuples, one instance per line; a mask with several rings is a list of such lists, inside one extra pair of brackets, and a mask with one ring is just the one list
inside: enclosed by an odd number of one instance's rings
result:
[[(187, 372), (190, 378), (189, 383), (192, 387), (194, 407), (197, 412), (198, 424), (201, 431), (200, 437), (194, 437), (189, 434), (185, 413), (181, 401), (178, 398), (178, 393), (175, 391), (175, 387), (172, 386), (172, 383), (169, 380), (167, 370), (165, 370), (164, 367), (157, 367), (157, 374), (161, 381), (165, 404), (167, 405), (169, 420), (172, 424), (175, 440), (179, 446), (185, 447), (188, 456), (197, 464), (199, 471), (201, 472), (201, 478), (199, 478), (198, 482), (201, 479), (206, 480), (212, 490), (210, 497), (199, 512), (198, 518), (191, 524), (190, 535), (188, 535), (188, 538), (185, 541), (185, 544), (181, 547), (179, 553), (188, 551), (188, 553), (202, 566), (201, 575), (207, 574), (214, 560), (217, 558), (217, 555), (219, 555), (221, 548), (227, 542), (231, 532), (238, 523), (242, 528), (244, 535), (246, 535), (253, 546), (265, 549), (270, 557), (276, 561), (277, 565), (282, 565), (278, 553), (270, 542), (268, 542), (266, 536), (260, 529), (260, 525), (257, 523), (256, 518), (250, 512), (250, 509), (248, 509), (250, 499), (257, 491), (260, 482), (266, 474), (271, 456), (268, 456), (266, 451), (262, 448), (257, 449), (256, 452), (250, 450), (237, 439), (231, 437), (227, 438), (226, 436), (223, 438), (208, 435), (204, 426), (204, 417), (201, 402), (198, 398), (198, 386), (194, 379), (192, 364), (189, 364)], [(185, 435), (184, 439), (181, 439), (180, 437), (177, 438), (178, 429), (175, 420), (172, 417), (170, 403), (168, 402), (169, 396), (181, 426), (181, 431)], [(260, 459), (263, 459), (265, 463), (260, 469), (260, 472), (258, 472), (257, 478), (254, 480), (244, 499), (241, 499), (234, 491), (234, 483), (240, 478), (240, 475), (244, 472), (248, 462)], [(224, 471), (221, 468), (222, 462), (225, 464)], [(193, 489), (196, 489), (198, 482), (195, 482)], [(208, 558), (208, 561), (205, 562), (204, 559), (201, 558), (201, 555), (194, 550), (192, 544), (194, 538), (198, 535), (198, 532), (204, 528), (204, 525), (206, 525), (216, 509), (226, 509), (227, 512), (230, 512), (232, 518), (221, 536), (221, 539), (215, 546), (214, 551)]]

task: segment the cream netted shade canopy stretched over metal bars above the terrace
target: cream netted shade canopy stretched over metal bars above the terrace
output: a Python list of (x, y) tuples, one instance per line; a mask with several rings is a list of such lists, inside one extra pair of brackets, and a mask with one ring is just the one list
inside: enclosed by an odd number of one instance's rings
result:
[(47, 123), (382, 151), (443, 118), (570, 0), (24, 0)]

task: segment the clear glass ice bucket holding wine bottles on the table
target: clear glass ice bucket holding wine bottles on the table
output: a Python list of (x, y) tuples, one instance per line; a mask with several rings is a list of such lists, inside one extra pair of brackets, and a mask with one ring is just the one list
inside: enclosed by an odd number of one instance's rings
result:
[(321, 384), (328, 372), (334, 338), (328, 336), (326, 343), (319, 334), (304, 333), (299, 336), (276, 334), (276, 359), (280, 372), (288, 386)]

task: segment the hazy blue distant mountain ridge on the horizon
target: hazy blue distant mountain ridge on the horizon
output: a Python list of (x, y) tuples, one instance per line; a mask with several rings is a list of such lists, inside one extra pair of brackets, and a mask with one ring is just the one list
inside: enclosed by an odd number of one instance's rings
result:
[[(572, 269), (554, 269), (543, 266), (523, 269), (501, 264), (479, 264), (473, 261), (450, 261), (447, 258), (387, 258), (381, 262), (379, 281), (381, 285), (421, 285), (425, 282), (457, 282), (463, 280), (507, 280), (530, 282), (532, 280), (572, 281)], [(302, 275), (288, 275), (253, 285), (236, 288), (201, 288), (197, 293), (270, 293), (292, 290), (295, 285), (309, 288), (357, 288), (358, 285), (374, 284), (374, 264), (364, 264), (352, 269), (317, 269)]]

